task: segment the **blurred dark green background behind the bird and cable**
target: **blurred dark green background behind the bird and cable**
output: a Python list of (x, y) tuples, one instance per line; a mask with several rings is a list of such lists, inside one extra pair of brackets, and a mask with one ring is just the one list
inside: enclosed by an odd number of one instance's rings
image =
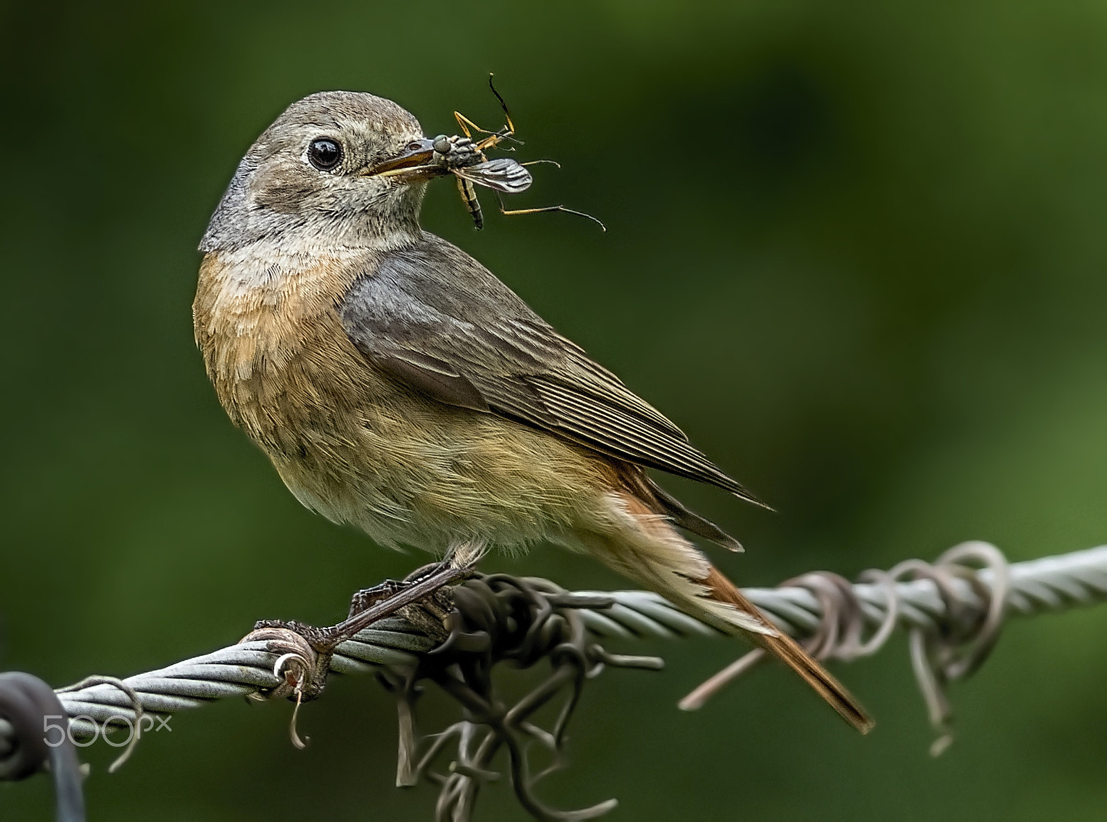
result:
[[(291, 101), (368, 90), (520, 157), (555, 157), (474, 233), (448, 183), (425, 226), (487, 264), (779, 512), (672, 481), (748, 548), (745, 584), (855, 575), (966, 538), (1013, 559), (1107, 541), (1107, 7), (778, 0), (548, 4), (7, 3), (0, 11), (8, 432), (0, 668), (62, 685), (332, 621), (403, 574), (301, 508), (227, 422), (192, 340), (208, 216)], [(492, 567), (619, 587), (554, 549)], [(586, 695), (541, 794), (624, 820), (1107, 818), (1107, 608), (1012, 624), (931, 734), (898, 638), (836, 670), (856, 737), (766, 667), (699, 713), (723, 641), (628, 646), (660, 675)], [(132, 761), (87, 749), (92, 820), (430, 819), (392, 788), (390, 699), (334, 681), (174, 717)], [(432, 718), (445, 720), (441, 710)], [(478, 819), (519, 819), (503, 787)], [(0, 818), (50, 818), (44, 779)]]

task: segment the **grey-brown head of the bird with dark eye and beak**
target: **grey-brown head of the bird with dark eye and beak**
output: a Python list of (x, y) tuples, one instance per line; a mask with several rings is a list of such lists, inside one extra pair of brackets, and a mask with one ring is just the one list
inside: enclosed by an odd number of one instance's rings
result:
[(238, 164), (199, 250), (258, 240), (387, 247), (418, 236), (432, 142), (391, 100), (328, 91), (292, 103)]

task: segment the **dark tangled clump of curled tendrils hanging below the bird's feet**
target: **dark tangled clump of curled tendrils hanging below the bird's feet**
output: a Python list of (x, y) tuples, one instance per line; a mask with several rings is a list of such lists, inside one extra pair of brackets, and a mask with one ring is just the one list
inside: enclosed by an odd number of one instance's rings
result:
[[(449, 637), (414, 667), (382, 677), (396, 693), (401, 725), (399, 784), (421, 779), (439, 785), (435, 819), (467, 822), (480, 789), (504, 778), (494, 759), (507, 752), (507, 774), (523, 809), (534, 819), (569, 822), (600, 816), (615, 800), (576, 811), (549, 808), (535, 795), (535, 787), (563, 767), (566, 731), (580, 700), (584, 681), (604, 666), (659, 669), (660, 659), (608, 654), (589, 634), (581, 609), (608, 608), (609, 597), (576, 596), (546, 580), (520, 579), (503, 574), (477, 577), (454, 589), (454, 608), (447, 616)], [(547, 660), (548, 676), (513, 706), (499, 697), (494, 670), (503, 661), (530, 668)], [(420, 739), (414, 730), (416, 684), (435, 682), (463, 708), (465, 718), (438, 734)], [(560, 699), (552, 727), (534, 717)], [(456, 744), (445, 772), (435, 763)], [(420, 756), (417, 749), (423, 748)], [(551, 762), (534, 771), (531, 750), (545, 751)], [(412, 764), (414, 763), (414, 766)]]

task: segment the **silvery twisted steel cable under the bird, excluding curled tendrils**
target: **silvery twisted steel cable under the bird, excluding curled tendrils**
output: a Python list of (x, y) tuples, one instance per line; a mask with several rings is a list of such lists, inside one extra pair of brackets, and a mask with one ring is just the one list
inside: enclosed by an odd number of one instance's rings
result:
[[(1004, 596), (1008, 616), (1034, 616), (1107, 602), (1107, 546), (1005, 565), (1004, 574), (1010, 586)], [(996, 569), (985, 568), (975, 572), (972, 580), (954, 578), (945, 597), (931, 578), (898, 582), (894, 586), (887, 580), (858, 583), (849, 590), (867, 629), (879, 630), (886, 626), (890, 609), (893, 609), (897, 626), (933, 633), (948, 625), (951, 597), (976, 612), (986, 609), (989, 604), (984, 599), (996, 585)], [(793, 636), (811, 636), (823, 625), (826, 603), (810, 587), (746, 588), (744, 593), (782, 630)], [(890, 596), (892, 593), (894, 595)], [(614, 600), (610, 608), (580, 612), (588, 630), (599, 638), (718, 636), (713, 628), (655, 594), (619, 590), (581, 592), (579, 595), (601, 595)], [(381, 666), (411, 664), (433, 644), (402, 617), (389, 617), (340, 645), (331, 660), (331, 670), (368, 672)], [(277, 688), (282, 682), (279, 671), (275, 671), (278, 658), (278, 654), (267, 650), (263, 641), (246, 643), (137, 674), (122, 682), (133, 691), (143, 713), (164, 717), (217, 699), (246, 697)], [(133, 727), (137, 713), (126, 689), (103, 682), (60, 691), (59, 700), (73, 720), (73, 736), (89, 738), (96, 732), (97, 725), (124, 727), (131, 723)], [(11, 725), (0, 718), (0, 757), (15, 746)]]

